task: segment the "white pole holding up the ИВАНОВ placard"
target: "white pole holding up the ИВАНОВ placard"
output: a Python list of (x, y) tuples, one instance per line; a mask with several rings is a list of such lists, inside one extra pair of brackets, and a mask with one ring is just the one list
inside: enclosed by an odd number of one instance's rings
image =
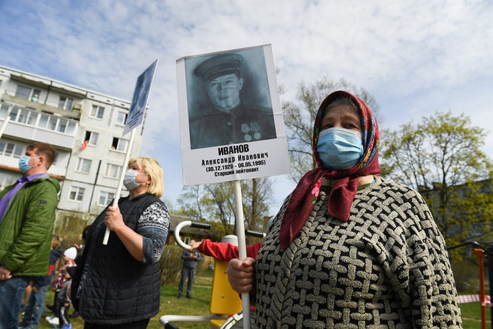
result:
[[(243, 202), (240, 180), (234, 180), (234, 198), (236, 213), (236, 235), (238, 236), (238, 257), (247, 258), (247, 242), (244, 236)], [(250, 329), (250, 294), (242, 293), (243, 329)]]

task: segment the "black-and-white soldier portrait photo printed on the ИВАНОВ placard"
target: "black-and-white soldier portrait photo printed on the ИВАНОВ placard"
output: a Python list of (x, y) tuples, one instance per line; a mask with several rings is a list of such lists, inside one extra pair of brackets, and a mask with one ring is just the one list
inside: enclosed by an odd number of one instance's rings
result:
[(276, 138), (262, 48), (187, 58), (190, 148)]

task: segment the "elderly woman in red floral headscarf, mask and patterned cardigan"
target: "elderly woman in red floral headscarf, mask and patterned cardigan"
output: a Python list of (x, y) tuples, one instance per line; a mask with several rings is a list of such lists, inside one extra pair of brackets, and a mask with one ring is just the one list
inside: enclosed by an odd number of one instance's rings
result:
[(379, 128), (345, 91), (318, 110), (308, 171), (256, 260), (228, 277), (254, 328), (462, 328), (442, 234), (420, 194), (379, 176)]

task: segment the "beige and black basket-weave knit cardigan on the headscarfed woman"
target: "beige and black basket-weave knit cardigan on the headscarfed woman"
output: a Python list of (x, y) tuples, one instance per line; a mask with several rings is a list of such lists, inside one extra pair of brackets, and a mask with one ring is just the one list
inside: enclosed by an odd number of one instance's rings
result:
[(376, 178), (347, 222), (326, 198), (285, 251), (283, 204), (255, 263), (254, 328), (462, 328), (444, 239), (416, 191)]

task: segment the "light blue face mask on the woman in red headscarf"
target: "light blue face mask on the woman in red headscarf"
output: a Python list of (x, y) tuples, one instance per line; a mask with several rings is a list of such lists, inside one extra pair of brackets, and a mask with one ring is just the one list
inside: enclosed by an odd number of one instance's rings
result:
[(333, 127), (318, 135), (318, 158), (329, 169), (351, 169), (363, 156), (363, 136), (353, 130)]

